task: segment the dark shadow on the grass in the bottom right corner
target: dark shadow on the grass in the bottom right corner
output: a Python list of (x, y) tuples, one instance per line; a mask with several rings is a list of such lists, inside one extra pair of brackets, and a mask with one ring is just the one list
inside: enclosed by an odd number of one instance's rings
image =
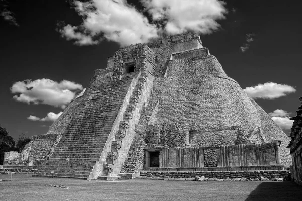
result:
[(246, 199), (246, 201), (252, 200), (302, 200), (302, 187), (290, 181), (262, 182)]

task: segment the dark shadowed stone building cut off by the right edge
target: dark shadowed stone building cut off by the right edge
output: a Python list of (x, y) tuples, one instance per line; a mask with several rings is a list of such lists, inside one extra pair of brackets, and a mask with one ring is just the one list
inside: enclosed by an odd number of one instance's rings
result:
[[(299, 98), (302, 101), (302, 97)], [(292, 157), (291, 177), (296, 183), (302, 185), (302, 105), (298, 107), (296, 117), (290, 118), (293, 121), (288, 144)]]

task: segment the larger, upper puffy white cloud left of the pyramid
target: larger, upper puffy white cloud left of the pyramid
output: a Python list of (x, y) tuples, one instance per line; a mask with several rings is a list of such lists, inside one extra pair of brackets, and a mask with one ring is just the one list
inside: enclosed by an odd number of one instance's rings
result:
[(68, 80), (58, 83), (43, 78), (15, 82), (10, 89), (13, 94), (17, 94), (13, 98), (19, 102), (45, 104), (64, 109), (83, 87)]

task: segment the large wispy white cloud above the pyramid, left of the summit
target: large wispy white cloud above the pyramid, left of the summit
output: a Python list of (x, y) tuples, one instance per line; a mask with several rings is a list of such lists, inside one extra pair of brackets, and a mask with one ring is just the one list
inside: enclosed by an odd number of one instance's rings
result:
[(150, 24), (148, 19), (126, 0), (73, 3), (84, 21), (78, 27), (67, 25), (60, 32), (68, 40), (76, 40), (78, 45), (97, 44), (106, 38), (121, 46), (127, 46), (145, 43), (158, 37), (156, 26)]

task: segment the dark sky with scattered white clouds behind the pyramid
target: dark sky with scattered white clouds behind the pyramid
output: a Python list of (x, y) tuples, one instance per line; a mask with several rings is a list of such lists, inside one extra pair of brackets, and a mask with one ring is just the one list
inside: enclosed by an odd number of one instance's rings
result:
[(14, 138), (45, 134), (120, 47), (194, 31), (288, 134), (302, 96), (302, 5), (291, 3), (0, 0), (0, 124)]

